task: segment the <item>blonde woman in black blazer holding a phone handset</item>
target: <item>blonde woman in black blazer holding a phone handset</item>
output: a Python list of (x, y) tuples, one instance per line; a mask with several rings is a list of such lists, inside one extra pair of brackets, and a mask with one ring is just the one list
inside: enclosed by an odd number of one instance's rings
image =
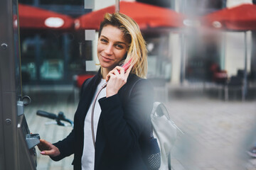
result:
[[(142, 79), (147, 69), (146, 45), (137, 23), (122, 13), (107, 13), (100, 24), (97, 57), (101, 68), (82, 85), (73, 131), (53, 145), (41, 140), (38, 148), (55, 161), (75, 154), (74, 169), (147, 169), (153, 88)], [(119, 65), (127, 62), (130, 67), (124, 72)], [(94, 147), (92, 100), (106, 81), (95, 106)]]

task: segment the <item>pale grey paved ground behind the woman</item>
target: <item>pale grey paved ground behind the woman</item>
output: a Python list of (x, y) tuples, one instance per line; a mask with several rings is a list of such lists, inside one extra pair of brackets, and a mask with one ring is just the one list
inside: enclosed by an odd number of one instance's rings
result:
[[(185, 135), (178, 134), (172, 149), (172, 169), (256, 170), (256, 159), (246, 154), (256, 142), (256, 101), (242, 102), (239, 98), (223, 101), (217, 94), (207, 96), (198, 89), (181, 91), (176, 93), (169, 89), (169, 101), (164, 101), (171, 118), (185, 132)], [(68, 135), (72, 128), (45, 125), (50, 120), (36, 116), (36, 111), (63, 111), (66, 117), (73, 119), (77, 103), (73, 100), (72, 90), (28, 89), (25, 93), (33, 100), (25, 108), (31, 132), (39, 133), (50, 142)], [(73, 169), (72, 160), (73, 156), (53, 162), (38, 152), (38, 170)]]

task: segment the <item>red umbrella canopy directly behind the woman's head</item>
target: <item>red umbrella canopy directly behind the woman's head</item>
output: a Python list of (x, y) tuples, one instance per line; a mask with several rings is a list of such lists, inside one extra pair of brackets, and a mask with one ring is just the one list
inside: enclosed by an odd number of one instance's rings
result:
[[(183, 26), (183, 15), (168, 8), (143, 4), (137, 1), (121, 1), (119, 6), (119, 12), (133, 18), (141, 29)], [(98, 30), (105, 13), (114, 13), (114, 5), (80, 16), (75, 20), (75, 28)]]

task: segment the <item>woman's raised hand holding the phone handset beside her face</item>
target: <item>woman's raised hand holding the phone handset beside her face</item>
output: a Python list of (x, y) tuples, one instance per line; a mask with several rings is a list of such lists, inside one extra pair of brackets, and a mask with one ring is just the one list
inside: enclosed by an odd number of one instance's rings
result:
[[(106, 96), (110, 97), (114, 94), (117, 94), (119, 89), (121, 89), (124, 84), (127, 82), (127, 78), (129, 76), (129, 72), (131, 72), (132, 67), (130, 66), (127, 69), (127, 72), (124, 72), (123, 67), (115, 67), (112, 69), (109, 74), (107, 74), (106, 81), (107, 81), (107, 89), (106, 89)], [(118, 72), (119, 71), (119, 72)]]

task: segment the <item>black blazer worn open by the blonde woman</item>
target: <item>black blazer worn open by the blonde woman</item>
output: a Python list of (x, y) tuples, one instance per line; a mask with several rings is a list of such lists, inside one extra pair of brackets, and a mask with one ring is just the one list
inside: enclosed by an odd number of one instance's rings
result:
[[(82, 85), (82, 96), (75, 112), (74, 128), (68, 137), (53, 144), (60, 150), (60, 155), (51, 159), (58, 161), (75, 154), (74, 169), (81, 169), (85, 115), (100, 79), (98, 72), (87, 86), (85, 82)], [(96, 134), (95, 170), (147, 169), (146, 151), (151, 128), (153, 91), (153, 86), (148, 80), (130, 74), (127, 83), (118, 94), (100, 98), (102, 113)]]

